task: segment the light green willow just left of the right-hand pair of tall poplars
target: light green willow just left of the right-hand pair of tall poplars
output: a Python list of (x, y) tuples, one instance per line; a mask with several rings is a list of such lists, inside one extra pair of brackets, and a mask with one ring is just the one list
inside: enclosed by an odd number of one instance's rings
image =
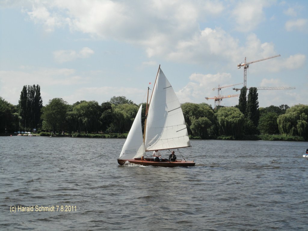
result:
[(237, 139), (242, 136), (244, 114), (236, 107), (222, 107), (217, 111), (219, 133), (233, 136)]

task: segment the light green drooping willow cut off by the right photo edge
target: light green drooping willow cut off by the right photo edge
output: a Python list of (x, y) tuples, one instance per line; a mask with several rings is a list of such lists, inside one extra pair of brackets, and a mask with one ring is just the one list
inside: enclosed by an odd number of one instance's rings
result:
[(308, 105), (297, 104), (279, 115), (277, 119), (280, 134), (308, 138)]

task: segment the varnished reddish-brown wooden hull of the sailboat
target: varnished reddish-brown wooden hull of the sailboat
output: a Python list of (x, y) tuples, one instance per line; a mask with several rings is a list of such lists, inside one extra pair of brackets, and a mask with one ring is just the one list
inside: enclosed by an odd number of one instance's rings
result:
[(124, 165), (128, 161), (131, 164), (139, 164), (144, 166), (154, 166), (154, 167), (188, 167), (188, 166), (195, 166), (195, 162), (193, 161), (185, 161), (185, 160), (176, 160), (169, 162), (167, 160), (163, 161), (154, 161), (152, 158), (144, 158), (141, 160), (141, 158), (135, 158), (135, 159), (129, 159), (129, 160), (120, 160), (118, 159), (118, 163), (120, 165)]

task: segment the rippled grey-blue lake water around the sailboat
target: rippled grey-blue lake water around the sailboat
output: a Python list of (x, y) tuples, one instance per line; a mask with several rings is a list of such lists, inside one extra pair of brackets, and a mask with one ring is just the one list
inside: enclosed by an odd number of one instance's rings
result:
[(0, 137), (0, 230), (308, 230), (308, 142), (192, 140), (195, 167), (157, 168), (118, 165), (124, 141)]

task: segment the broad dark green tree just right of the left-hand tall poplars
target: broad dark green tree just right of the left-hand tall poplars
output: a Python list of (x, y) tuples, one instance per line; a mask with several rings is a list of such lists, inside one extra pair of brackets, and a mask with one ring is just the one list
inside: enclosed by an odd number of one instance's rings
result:
[(48, 104), (43, 107), (43, 129), (55, 131), (66, 130), (67, 127), (67, 109), (69, 105), (62, 98), (49, 100)]

